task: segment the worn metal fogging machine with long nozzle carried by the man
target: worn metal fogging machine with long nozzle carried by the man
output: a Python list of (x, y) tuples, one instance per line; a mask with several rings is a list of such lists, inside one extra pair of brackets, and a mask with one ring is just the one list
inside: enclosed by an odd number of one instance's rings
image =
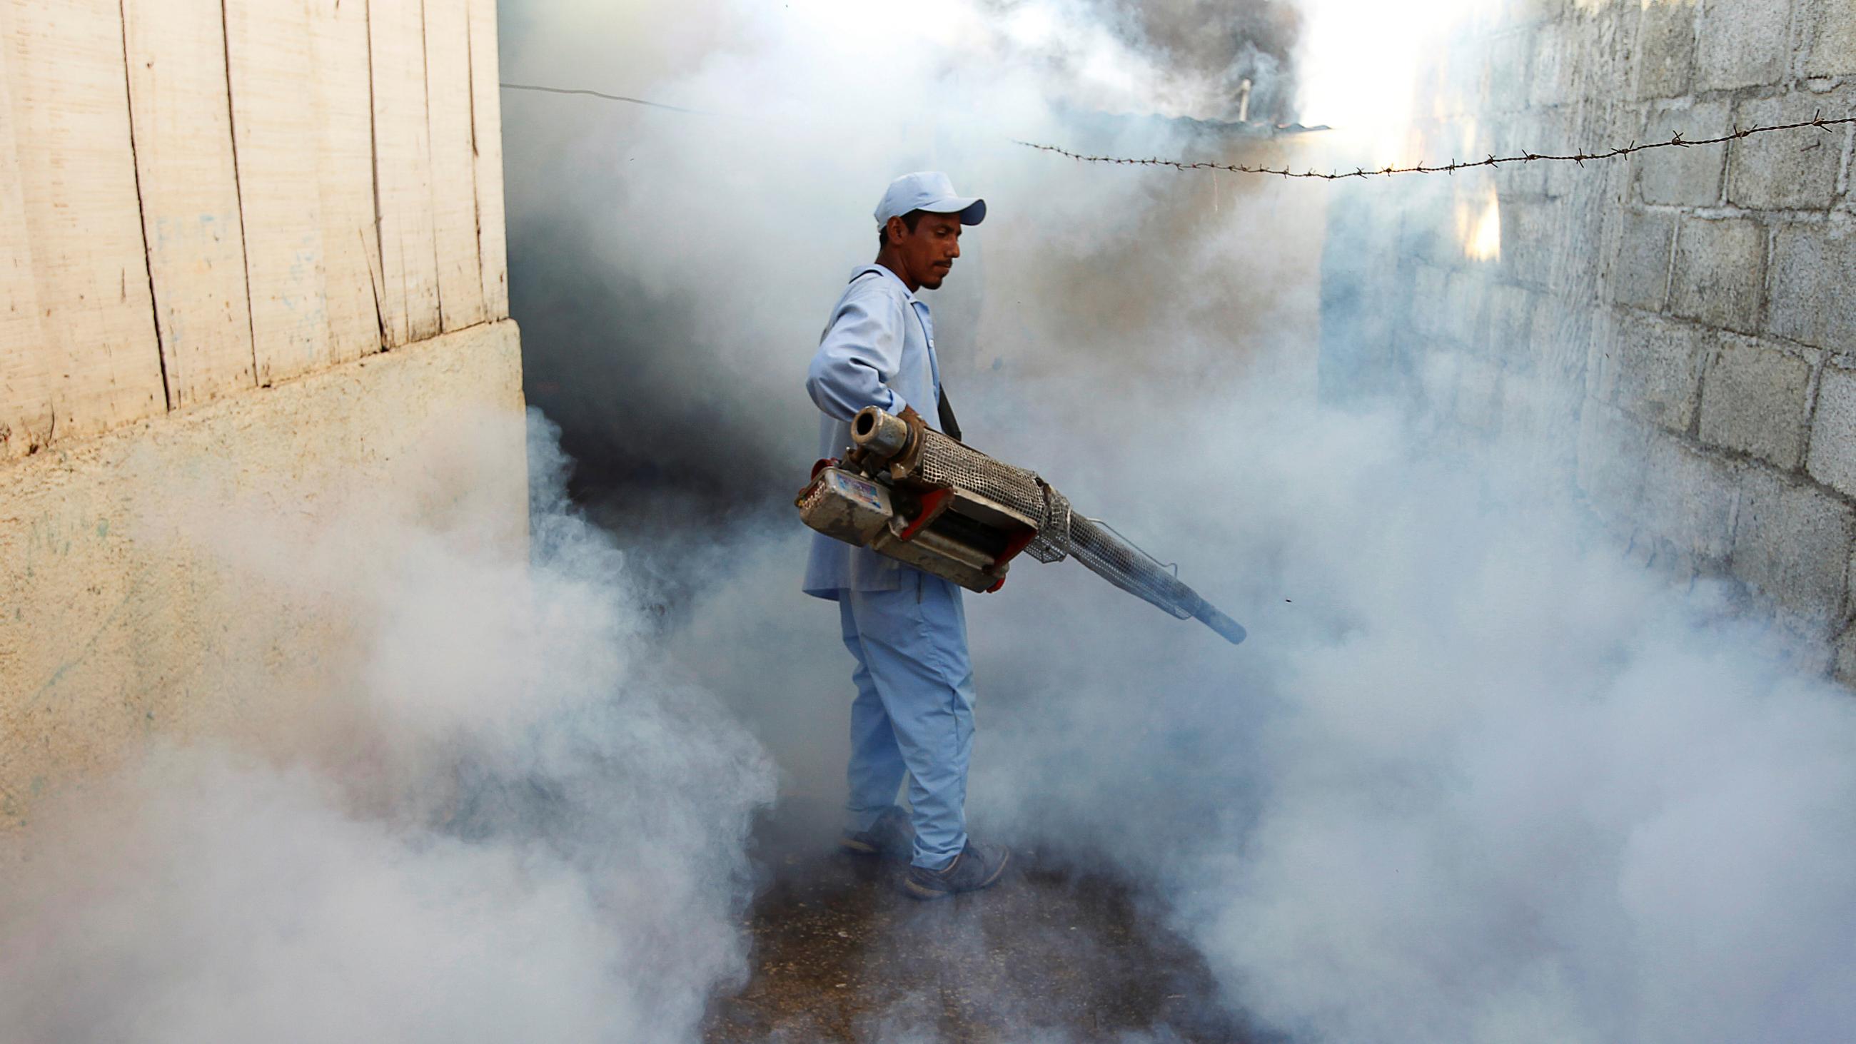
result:
[(811, 528), (969, 592), (997, 592), (1019, 554), (1075, 558), (1134, 597), (1244, 642), (1236, 619), (1101, 519), (1071, 510), (1038, 473), (876, 406), (852, 419), (850, 438), (846, 456), (815, 464), (794, 501)]

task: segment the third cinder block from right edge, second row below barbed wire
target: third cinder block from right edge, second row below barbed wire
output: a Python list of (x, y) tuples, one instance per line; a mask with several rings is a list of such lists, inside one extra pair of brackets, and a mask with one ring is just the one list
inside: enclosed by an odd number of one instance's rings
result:
[(1644, 421), (1687, 432), (1713, 337), (1696, 326), (1624, 312), (1611, 326), (1594, 373), (1587, 375), (1587, 388)]

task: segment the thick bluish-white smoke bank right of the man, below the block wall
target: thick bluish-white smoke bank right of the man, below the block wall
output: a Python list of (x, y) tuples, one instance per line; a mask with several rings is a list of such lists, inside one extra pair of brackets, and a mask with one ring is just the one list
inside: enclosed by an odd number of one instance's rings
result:
[(989, 721), (993, 814), (1151, 881), (1295, 1038), (1839, 1038), (1849, 694), (1503, 456), (1242, 414), (1173, 478), (1229, 547), (1188, 575), (1245, 592), (1251, 643), (1130, 647), (1128, 619), (1032, 647), (1086, 668)]

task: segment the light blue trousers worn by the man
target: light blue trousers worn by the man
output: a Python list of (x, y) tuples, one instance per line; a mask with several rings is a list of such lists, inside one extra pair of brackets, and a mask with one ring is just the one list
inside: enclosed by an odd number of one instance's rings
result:
[(867, 831), (909, 777), (915, 866), (941, 870), (967, 844), (973, 660), (960, 588), (919, 569), (902, 590), (839, 592), (857, 660), (850, 705), (850, 829)]

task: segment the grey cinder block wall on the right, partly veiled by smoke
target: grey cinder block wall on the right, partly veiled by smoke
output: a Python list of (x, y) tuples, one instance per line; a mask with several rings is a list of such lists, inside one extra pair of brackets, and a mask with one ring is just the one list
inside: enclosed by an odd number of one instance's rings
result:
[[(1429, 69), (1407, 159), (1700, 139), (1856, 102), (1849, 0), (1490, 7)], [(1325, 389), (1396, 388), (1533, 439), (1639, 553), (1841, 636), (1849, 677), (1850, 141), (1778, 132), (1353, 187), (1325, 265)]]

